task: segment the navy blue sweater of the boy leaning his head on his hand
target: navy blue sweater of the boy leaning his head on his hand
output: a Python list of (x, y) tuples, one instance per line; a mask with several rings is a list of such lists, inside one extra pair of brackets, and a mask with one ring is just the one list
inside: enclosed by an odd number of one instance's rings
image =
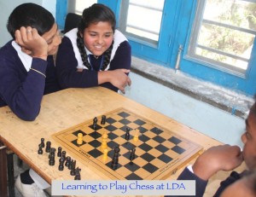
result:
[(12, 41), (0, 49), (0, 107), (8, 105), (20, 119), (30, 121), (38, 116), (44, 94), (60, 90), (52, 55), (47, 61), (32, 58), (31, 67), (46, 78), (34, 70), (26, 71)]

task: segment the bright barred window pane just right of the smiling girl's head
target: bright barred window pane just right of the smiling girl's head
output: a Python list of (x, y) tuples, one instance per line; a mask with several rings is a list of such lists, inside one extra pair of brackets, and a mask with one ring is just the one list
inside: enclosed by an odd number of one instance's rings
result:
[(123, 1), (122, 8), (120, 30), (130, 38), (140, 38), (156, 45), (159, 41), (164, 0)]

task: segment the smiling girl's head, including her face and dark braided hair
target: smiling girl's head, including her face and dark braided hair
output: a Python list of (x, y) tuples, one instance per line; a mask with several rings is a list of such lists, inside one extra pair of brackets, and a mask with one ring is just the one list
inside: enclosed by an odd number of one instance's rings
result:
[(96, 57), (104, 55), (101, 70), (106, 69), (113, 49), (115, 25), (115, 15), (107, 6), (95, 3), (84, 9), (78, 26), (77, 44), (85, 67), (91, 68), (84, 46)]

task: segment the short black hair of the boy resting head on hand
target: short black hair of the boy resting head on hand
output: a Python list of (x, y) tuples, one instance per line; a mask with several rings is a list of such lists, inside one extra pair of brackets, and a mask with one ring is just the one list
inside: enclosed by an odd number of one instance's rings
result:
[(55, 24), (54, 16), (42, 6), (35, 3), (23, 3), (16, 7), (9, 15), (8, 32), (15, 38), (15, 31), (21, 26), (31, 26), (38, 30), (39, 35), (49, 32)]

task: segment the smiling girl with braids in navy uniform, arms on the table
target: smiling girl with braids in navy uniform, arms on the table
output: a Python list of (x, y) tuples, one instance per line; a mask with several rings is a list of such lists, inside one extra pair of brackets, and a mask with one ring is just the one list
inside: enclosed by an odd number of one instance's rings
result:
[(65, 34), (56, 56), (61, 88), (101, 85), (125, 93), (131, 85), (131, 46), (115, 24), (113, 11), (103, 4), (84, 9), (79, 27)]

